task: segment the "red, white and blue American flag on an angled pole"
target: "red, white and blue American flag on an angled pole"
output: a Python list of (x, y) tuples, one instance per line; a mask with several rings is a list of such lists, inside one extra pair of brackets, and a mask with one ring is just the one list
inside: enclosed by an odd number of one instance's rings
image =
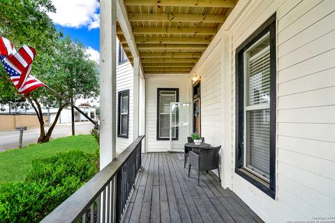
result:
[(30, 75), (35, 55), (33, 47), (23, 45), (16, 51), (10, 40), (0, 36), (0, 61), (19, 93), (29, 94), (34, 89), (45, 86)]

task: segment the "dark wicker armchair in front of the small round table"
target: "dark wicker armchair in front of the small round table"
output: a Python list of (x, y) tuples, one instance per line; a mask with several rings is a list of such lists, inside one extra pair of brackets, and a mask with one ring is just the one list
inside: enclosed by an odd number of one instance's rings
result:
[(218, 169), (218, 178), (221, 181), (220, 169), (218, 168), (218, 151), (221, 146), (200, 148), (200, 154), (188, 153), (188, 177), (190, 177), (191, 166), (198, 171), (198, 185), (200, 180), (200, 171), (209, 171), (212, 169)]

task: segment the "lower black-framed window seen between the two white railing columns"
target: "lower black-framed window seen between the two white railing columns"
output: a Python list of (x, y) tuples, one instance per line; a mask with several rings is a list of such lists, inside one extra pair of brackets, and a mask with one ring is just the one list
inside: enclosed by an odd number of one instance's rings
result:
[(119, 91), (117, 136), (128, 138), (129, 128), (129, 90)]

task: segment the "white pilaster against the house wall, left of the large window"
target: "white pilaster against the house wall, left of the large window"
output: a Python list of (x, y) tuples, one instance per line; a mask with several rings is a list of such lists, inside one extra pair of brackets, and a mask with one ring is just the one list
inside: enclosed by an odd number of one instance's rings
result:
[(221, 102), (223, 121), (223, 139), (221, 147), (221, 185), (232, 187), (232, 44), (230, 31), (223, 31), (221, 36)]

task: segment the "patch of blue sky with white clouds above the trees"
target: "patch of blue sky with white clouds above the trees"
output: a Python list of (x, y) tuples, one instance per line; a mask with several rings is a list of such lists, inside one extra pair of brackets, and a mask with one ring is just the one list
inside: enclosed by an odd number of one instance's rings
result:
[(99, 63), (100, 6), (97, 0), (52, 0), (56, 13), (48, 15), (57, 30), (87, 48), (90, 59)]

